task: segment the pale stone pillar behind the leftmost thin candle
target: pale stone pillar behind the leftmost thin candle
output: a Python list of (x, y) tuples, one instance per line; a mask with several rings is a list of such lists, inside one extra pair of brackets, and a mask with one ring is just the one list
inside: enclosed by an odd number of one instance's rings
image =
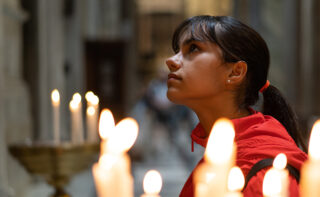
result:
[[(51, 91), (57, 88), (61, 103), (65, 97), (63, 1), (38, 1), (38, 140), (52, 140)], [(64, 108), (67, 106), (61, 106)], [(63, 121), (66, 114), (61, 114)], [(64, 125), (64, 122), (61, 122)], [(60, 128), (63, 129), (63, 128)], [(61, 130), (65, 133), (65, 130)]]

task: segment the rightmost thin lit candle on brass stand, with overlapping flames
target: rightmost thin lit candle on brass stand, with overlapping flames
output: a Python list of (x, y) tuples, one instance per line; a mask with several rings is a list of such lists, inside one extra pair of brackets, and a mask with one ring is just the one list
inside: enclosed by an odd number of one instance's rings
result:
[(99, 98), (89, 91), (86, 93), (85, 98), (87, 100), (87, 135), (89, 142), (98, 141), (98, 113), (99, 113)]

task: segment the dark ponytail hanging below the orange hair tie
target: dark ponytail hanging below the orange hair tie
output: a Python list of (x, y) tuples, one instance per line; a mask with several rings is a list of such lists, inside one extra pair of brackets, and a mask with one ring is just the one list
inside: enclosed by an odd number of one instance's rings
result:
[(307, 146), (298, 127), (297, 115), (281, 95), (280, 91), (270, 85), (262, 94), (263, 114), (276, 118), (287, 129), (297, 146), (306, 152)]

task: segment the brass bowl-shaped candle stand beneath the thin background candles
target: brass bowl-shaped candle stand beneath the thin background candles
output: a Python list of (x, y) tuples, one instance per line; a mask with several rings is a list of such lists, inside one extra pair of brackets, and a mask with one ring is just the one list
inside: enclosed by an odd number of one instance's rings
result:
[(10, 153), (34, 175), (55, 188), (52, 197), (70, 197), (64, 190), (70, 178), (98, 160), (99, 144), (15, 144)]

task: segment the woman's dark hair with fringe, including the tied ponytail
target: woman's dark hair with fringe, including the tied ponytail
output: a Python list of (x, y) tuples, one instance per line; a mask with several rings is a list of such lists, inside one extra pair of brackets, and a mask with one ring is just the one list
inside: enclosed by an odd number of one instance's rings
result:
[[(186, 19), (177, 27), (172, 39), (176, 53), (183, 36), (217, 44), (225, 62), (245, 61), (246, 80), (243, 87), (239, 87), (237, 102), (241, 108), (248, 108), (258, 101), (259, 90), (267, 81), (270, 55), (266, 42), (255, 30), (230, 16), (203, 15)], [(296, 144), (306, 151), (297, 117), (280, 91), (270, 85), (263, 92), (263, 98), (263, 113), (281, 122)]]

